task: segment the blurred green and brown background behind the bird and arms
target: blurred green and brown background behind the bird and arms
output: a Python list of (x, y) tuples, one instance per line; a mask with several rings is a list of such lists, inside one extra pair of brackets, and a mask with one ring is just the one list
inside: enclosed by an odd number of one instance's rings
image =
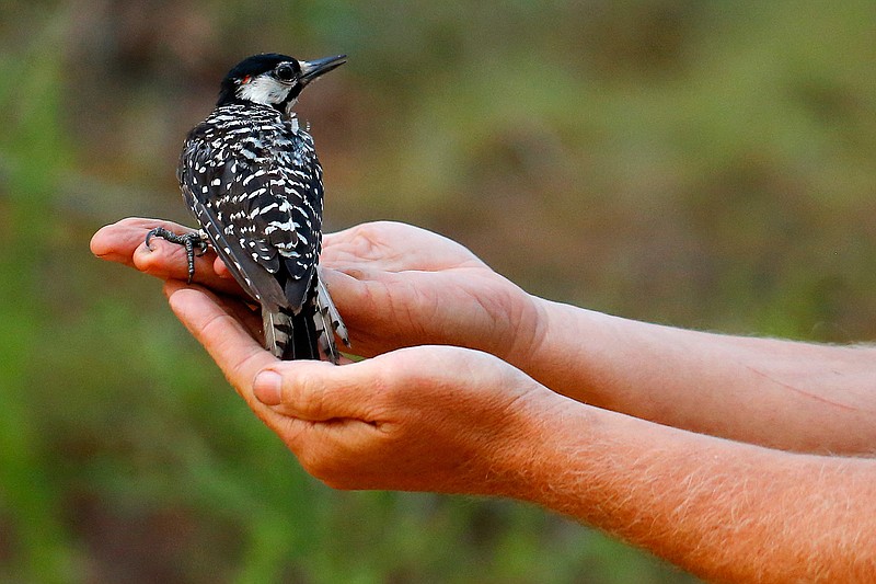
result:
[(528, 290), (682, 327), (876, 335), (876, 3), (0, 3), (0, 581), (687, 582), (514, 502), (334, 492), (93, 259), (191, 224), (185, 133), (240, 58), (304, 93), (326, 224), (410, 221)]

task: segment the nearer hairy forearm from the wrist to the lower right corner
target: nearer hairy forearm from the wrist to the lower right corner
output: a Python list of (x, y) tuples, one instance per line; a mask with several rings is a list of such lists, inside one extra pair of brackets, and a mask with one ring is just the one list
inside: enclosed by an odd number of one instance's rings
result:
[(710, 580), (876, 577), (876, 461), (770, 450), (584, 405), (538, 426), (511, 496)]

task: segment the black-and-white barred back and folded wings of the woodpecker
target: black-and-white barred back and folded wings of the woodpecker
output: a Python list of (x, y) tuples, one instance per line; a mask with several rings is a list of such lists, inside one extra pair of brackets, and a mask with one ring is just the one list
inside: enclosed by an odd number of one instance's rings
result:
[(240, 285), (298, 312), (312, 299), (321, 248), (322, 169), (313, 139), (266, 106), (217, 107), (188, 135), (180, 184)]

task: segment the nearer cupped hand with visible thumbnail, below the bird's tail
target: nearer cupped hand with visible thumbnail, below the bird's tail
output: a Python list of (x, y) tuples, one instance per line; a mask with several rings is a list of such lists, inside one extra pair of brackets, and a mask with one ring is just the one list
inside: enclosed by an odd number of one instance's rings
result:
[(334, 488), (519, 496), (540, 421), (565, 406), (514, 367), (457, 347), (341, 367), (279, 362), (241, 324), (234, 302), (174, 280), (165, 293), (253, 412)]

